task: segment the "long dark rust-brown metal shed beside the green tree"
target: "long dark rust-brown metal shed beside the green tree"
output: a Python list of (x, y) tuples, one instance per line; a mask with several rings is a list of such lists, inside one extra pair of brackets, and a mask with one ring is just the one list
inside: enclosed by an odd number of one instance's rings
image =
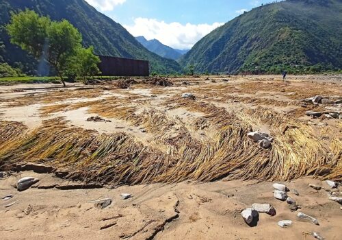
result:
[(103, 76), (145, 77), (150, 75), (148, 61), (110, 56), (98, 57), (101, 60), (98, 68)]

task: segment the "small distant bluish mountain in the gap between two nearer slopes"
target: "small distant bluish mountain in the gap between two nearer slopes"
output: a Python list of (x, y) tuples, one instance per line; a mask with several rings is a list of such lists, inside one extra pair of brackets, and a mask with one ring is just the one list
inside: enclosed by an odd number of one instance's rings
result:
[(152, 51), (153, 53), (158, 54), (159, 56), (163, 58), (169, 58), (173, 60), (178, 60), (183, 56), (185, 53), (187, 53), (188, 50), (179, 50), (179, 49), (173, 49), (172, 47), (168, 47), (166, 45), (163, 45), (163, 43), (160, 43), (159, 40), (153, 39), (153, 40), (146, 40), (143, 36), (137, 36), (135, 39), (139, 43), (141, 43), (146, 49)]

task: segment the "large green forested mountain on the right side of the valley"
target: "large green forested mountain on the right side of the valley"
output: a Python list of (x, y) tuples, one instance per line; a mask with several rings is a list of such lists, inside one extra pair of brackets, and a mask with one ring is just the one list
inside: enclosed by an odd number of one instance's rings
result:
[(211, 73), (338, 70), (341, 26), (342, 0), (270, 3), (218, 27), (179, 62)]

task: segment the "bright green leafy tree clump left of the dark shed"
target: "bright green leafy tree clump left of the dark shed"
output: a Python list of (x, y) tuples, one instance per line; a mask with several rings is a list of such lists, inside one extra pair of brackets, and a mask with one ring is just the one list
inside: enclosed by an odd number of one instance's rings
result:
[(36, 12), (25, 10), (14, 14), (10, 24), (6, 26), (11, 43), (31, 53), (34, 58), (42, 57), (53, 66), (66, 86), (63, 76), (74, 71), (79, 74), (98, 73), (99, 58), (94, 55), (93, 48), (84, 49), (82, 36), (68, 21), (51, 21), (47, 16), (39, 16)]

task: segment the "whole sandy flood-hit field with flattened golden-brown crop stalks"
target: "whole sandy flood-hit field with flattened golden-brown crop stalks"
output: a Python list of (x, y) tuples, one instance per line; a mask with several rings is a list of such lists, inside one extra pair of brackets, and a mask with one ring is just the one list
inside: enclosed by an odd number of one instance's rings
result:
[[(168, 81), (0, 86), (0, 171), (8, 176), (0, 178), (0, 197), (16, 193), (11, 186), (20, 177), (40, 178), (10, 210), (1, 203), (10, 224), (0, 224), (1, 235), (24, 239), (36, 229), (25, 239), (44, 239), (44, 232), (51, 239), (304, 239), (320, 230), (341, 237), (339, 204), (308, 187), (342, 181), (341, 75)], [(317, 95), (324, 100), (302, 101)], [(256, 131), (269, 135), (271, 147), (248, 138)], [(72, 182), (102, 188), (55, 189)], [(280, 228), (278, 221), (296, 213), (274, 199), (272, 182), (305, 193), (302, 208), (323, 224)], [(114, 197), (101, 213), (86, 203), (123, 192), (132, 200)], [(250, 228), (240, 212), (254, 202), (271, 203), (280, 215), (261, 216)], [(18, 217), (28, 204), (36, 215)]]

